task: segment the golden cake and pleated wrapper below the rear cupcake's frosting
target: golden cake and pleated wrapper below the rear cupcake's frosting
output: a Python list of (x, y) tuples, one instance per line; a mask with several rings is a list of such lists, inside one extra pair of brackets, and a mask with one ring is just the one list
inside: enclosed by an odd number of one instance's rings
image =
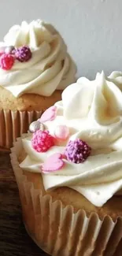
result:
[[(15, 98), (0, 87), (0, 147), (10, 149), (17, 137), (28, 132), (29, 124), (36, 121), (42, 113), (61, 100), (61, 91), (54, 91), (50, 97), (41, 95), (22, 95)], [(6, 95), (4, 95), (6, 92)], [(2, 97), (3, 96), (3, 97)], [(5, 107), (5, 109), (3, 108)]]

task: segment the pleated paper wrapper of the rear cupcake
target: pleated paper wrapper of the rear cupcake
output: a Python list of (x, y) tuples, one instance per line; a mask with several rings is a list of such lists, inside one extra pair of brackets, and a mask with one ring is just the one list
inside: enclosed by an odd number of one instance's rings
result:
[(43, 111), (0, 110), (0, 147), (10, 149), (17, 137), (28, 132), (28, 126), (37, 120)]

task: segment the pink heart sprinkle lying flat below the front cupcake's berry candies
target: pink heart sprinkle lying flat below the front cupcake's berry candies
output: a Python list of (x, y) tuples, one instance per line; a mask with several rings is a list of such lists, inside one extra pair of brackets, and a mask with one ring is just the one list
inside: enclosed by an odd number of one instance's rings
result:
[(42, 165), (43, 173), (51, 173), (61, 169), (64, 165), (63, 155), (60, 153), (52, 154)]

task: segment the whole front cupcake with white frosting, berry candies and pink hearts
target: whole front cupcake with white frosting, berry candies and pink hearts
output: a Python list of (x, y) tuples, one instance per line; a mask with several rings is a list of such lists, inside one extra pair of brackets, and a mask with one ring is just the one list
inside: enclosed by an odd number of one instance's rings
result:
[(120, 88), (81, 77), (35, 124), (11, 154), (29, 235), (53, 256), (119, 256)]

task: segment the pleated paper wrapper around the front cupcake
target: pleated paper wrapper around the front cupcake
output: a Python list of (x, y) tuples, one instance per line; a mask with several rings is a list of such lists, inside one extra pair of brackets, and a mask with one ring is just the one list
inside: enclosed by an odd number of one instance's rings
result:
[[(26, 136), (26, 135), (23, 135)], [(40, 248), (53, 256), (121, 256), (118, 246), (122, 239), (122, 217), (113, 222), (97, 213), (87, 217), (84, 210), (74, 213), (72, 206), (53, 202), (50, 195), (36, 190), (19, 167), (18, 156), (23, 147), (17, 139), (11, 149), (11, 162), (20, 192), (24, 224)], [(41, 256), (41, 254), (40, 254)]]

